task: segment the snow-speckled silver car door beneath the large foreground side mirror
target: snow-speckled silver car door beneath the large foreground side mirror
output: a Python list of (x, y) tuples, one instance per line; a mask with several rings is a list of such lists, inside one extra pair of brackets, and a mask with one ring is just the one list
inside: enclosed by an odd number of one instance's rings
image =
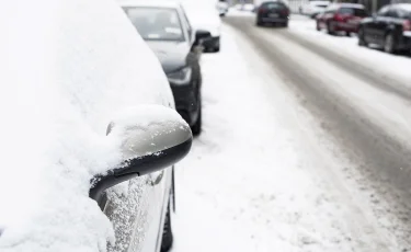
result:
[(171, 168), (107, 190), (99, 203), (113, 224), (109, 252), (158, 252), (171, 186)]

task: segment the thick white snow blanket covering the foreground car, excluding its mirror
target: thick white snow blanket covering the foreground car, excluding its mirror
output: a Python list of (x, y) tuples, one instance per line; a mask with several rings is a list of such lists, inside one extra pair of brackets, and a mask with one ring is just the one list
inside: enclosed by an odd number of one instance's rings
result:
[(90, 179), (121, 161), (107, 124), (172, 103), (161, 66), (111, 0), (20, 0), (0, 10), (1, 251), (105, 251)]

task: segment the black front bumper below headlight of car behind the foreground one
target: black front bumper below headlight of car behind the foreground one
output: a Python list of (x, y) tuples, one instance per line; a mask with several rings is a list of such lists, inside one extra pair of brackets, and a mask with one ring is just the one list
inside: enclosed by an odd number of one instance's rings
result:
[(170, 83), (174, 95), (175, 108), (179, 114), (193, 126), (198, 117), (198, 101), (194, 84), (175, 85)]

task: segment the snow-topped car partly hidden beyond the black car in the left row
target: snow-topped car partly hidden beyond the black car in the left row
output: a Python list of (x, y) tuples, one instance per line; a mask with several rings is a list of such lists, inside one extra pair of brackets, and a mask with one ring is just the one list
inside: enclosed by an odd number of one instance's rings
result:
[(185, 1), (183, 3), (187, 19), (195, 30), (207, 31), (210, 37), (203, 39), (205, 53), (218, 53), (220, 50), (221, 20), (216, 9), (207, 3)]

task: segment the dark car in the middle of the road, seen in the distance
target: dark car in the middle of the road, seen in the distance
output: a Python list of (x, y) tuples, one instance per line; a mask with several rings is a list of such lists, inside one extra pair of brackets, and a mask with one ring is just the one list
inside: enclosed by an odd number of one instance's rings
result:
[(262, 26), (264, 24), (288, 26), (289, 9), (282, 1), (266, 1), (263, 2), (258, 11), (255, 24)]

